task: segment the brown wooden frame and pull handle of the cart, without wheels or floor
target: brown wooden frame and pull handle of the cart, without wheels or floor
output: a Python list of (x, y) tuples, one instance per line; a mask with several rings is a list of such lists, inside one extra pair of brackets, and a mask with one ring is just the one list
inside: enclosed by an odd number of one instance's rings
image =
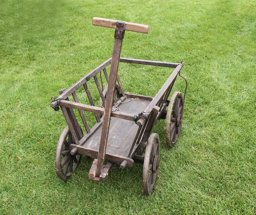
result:
[[(93, 18), (93, 24), (99, 25), (99, 26), (106, 26), (108, 23), (106, 24), (106, 22), (102, 20), (103, 19), (99, 20), (99, 18)], [(114, 165), (118, 165), (123, 169), (125, 168), (125, 166), (133, 166), (134, 162), (143, 163), (144, 161), (143, 152), (148, 142), (148, 138), (150, 136), (151, 130), (154, 124), (157, 122), (157, 120), (166, 118), (166, 113), (167, 113), (166, 107), (169, 105), (169, 102), (170, 102), (168, 97), (175, 83), (176, 77), (177, 75), (180, 75), (180, 70), (184, 65), (182, 61), (181, 63), (170, 63), (170, 62), (161, 62), (161, 61), (154, 61), (154, 60), (139, 60), (139, 59), (120, 57), (124, 32), (125, 30), (128, 30), (127, 26), (129, 25), (128, 23), (125, 23), (122, 21), (111, 20), (112, 23), (113, 21), (115, 21), (116, 23), (114, 26), (113, 25), (106, 26), (106, 27), (111, 27), (116, 29), (112, 57), (106, 60), (104, 63), (102, 63), (98, 67), (96, 67), (95, 69), (93, 69), (90, 73), (82, 77), (79, 81), (73, 84), (73, 86), (71, 86), (69, 89), (60, 90), (59, 97), (57, 99), (53, 98), (51, 102), (51, 107), (54, 108), (55, 111), (58, 111), (59, 107), (61, 108), (64, 118), (67, 122), (68, 128), (70, 130), (70, 133), (72, 135), (72, 138), (74, 140), (74, 143), (70, 144), (69, 146), (70, 154), (86, 155), (87, 157), (95, 158), (92, 161), (93, 164), (89, 172), (89, 178), (95, 181), (105, 181), (108, 176), (109, 170), (113, 168)], [(139, 29), (135, 28), (135, 30), (132, 29), (131, 31), (147, 33), (148, 28), (145, 30), (145, 26), (143, 25), (141, 26), (142, 26), (141, 28)], [(170, 75), (170, 77), (168, 78), (168, 80), (163, 84), (162, 88), (159, 90), (157, 95), (155, 95), (155, 97), (148, 97), (144, 95), (135, 95), (135, 94), (124, 92), (119, 76), (117, 75), (119, 62), (150, 65), (150, 66), (162, 66), (162, 67), (169, 67), (169, 68), (175, 68), (175, 69)], [(111, 69), (110, 69), (110, 75), (108, 76), (106, 67), (109, 65), (111, 65)], [(106, 97), (103, 94), (103, 89), (101, 87), (102, 79), (100, 84), (96, 76), (101, 72), (104, 73), (106, 81), (108, 83), (108, 91), (107, 91)], [(102, 99), (102, 102), (105, 108), (97, 107), (94, 104), (93, 98), (90, 94), (90, 90), (87, 86), (87, 82), (92, 78), (96, 83), (97, 89), (99, 91), (99, 95)], [(116, 82), (118, 83), (118, 86), (122, 94), (122, 97), (120, 97), (119, 99), (120, 102), (124, 102), (125, 99), (128, 97), (150, 101), (149, 105), (146, 107), (144, 112), (138, 112), (137, 115), (134, 115), (128, 112), (112, 111), (113, 103), (116, 102), (114, 98), (114, 89), (116, 86)], [(186, 86), (187, 86), (187, 83), (186, 83)], [(81, 87), (84, 87), (88, 100), (90, 101), (90, 105), (79, 103), (79, 99), (76, 95), (76, 90), (78, 90)], [(185, 100), (185, 94), (186, 94), (186, 89), (184, 93), (183, 105)], [(71, 95), (73, 96), (74, 102), (69, 100), (69, 97)], [(78, 120), (76, 118), (76, 115), (73, 109), (78, 109), (79, 111), (79, 115), (84, 124), (84, 129), (87, 132), (85, 135), (83, 135), (81, 131), (81, 126), (78, 123)], [(93, 112), (96, 117), (97, 123), (91, 129), (87, 124), (87, 120), (84, 116), (83, 111)], [(103, 117), (100, 118), (100, 115), (103, 115)], [(182, 107), (182, 116), (183, 116), (183, 107)], [(131, 145), (130, 152), (127, 157), (106, 153), (111, 117), (135, 121), (136, 124), (139, 126), (139, 129), (137, 130), (137, 133), (134, 137), (134, 141)], [(99, 143), (99, 150), (93, 150), (93, 149), (84, 147), (84, 144), (86, 143), (86, 141), (100, 127), (102, 127), (102, 133), (101, 133), (101, 138)], [(108, 161), (108, 163), (104, 165), (105, 161)]]

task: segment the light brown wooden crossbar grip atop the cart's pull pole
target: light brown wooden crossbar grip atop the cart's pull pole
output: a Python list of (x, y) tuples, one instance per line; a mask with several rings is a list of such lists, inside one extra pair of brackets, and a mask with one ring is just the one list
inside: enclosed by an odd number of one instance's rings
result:
[[(116, 22), (117, 20), (109, 20), (109, 19), (104, 19), (99, 17), (93, 17), (93, 25), (95, 26), (103, 26), (103, 27), (115, 29)], [(125, 22), (125, 30), (147, 34), (149, 31), (149, 26)]]

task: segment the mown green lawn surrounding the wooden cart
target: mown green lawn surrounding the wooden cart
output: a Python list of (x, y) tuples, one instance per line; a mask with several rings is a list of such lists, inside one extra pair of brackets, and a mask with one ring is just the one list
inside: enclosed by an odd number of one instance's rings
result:
[[(94, 16), (150, 26), (149, 34), (125, 33), (122, 57), (185, 62), (177, 145), (166, 146), (164, 121), (153, 129), (161, 158), (151, 196), (142, 165), (113, 169), (105, 183), (87, 179), (84, 158), (70, 181), (55, 174), (66, 123), (50, 97), (113, 49), (113, 29), (92, 26)], [(255, 0), (1, 0), (0, 17), (1, 215), (256, 214)], [(126, 92), (149, 96), (171, 72), (119, 69)], [(175, 90), (183, 89), (178, 79)]]

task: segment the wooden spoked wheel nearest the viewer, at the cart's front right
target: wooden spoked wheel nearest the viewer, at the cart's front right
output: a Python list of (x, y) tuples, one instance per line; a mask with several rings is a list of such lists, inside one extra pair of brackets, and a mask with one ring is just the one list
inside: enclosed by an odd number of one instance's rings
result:
[(157, 180), (159, 145), (158, 134), (151, 134), (148, 139), (143, 166), (143, 189), (146, 195), (151, 194)]

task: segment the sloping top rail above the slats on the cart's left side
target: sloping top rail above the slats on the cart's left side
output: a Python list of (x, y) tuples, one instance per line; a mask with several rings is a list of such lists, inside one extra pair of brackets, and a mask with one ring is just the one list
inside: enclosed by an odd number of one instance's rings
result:
[(66, 99), (69, 97), (73, 92), (75, 92), (77, 89), (79, 89), (81, 86), (83, 86), (88, 80), (93, 78), (95, 75), (97, 75), (102, 69), (104, 69), (106, 66), (111, 64), (111, 58), (106, 60), (101, 65), (97, 66), (95, 69), (93, 69), (90, 73), (82, 77), (79, 81), (77, 81), (75, 84), (73, 84), (69, 89), (67, 89), (64, 93), (62, 93), (57, 99)]

